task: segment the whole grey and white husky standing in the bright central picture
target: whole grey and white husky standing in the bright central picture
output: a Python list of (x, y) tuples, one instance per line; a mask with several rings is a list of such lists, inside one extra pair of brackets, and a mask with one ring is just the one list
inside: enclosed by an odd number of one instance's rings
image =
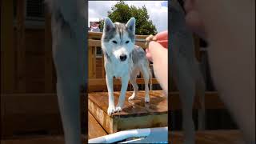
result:
[[(105, 18), (102, 34), (102, 51), (105, 60), (106, 86), (109, 94), (109, 115), (121, 111), (126, 98), (128, 82), (134, 87), (134, 93), (128, 98), (132, 100), (138, 93), (136, 77), (142, 72), (145, 81), (145, 102), (150, 102), (148, 82), (151, 77), (149, 62), (145, 51), (135, 46), (135, 18), (126, 23), (112, 22)], [(122, 78), (121, 94), (118, 105), (114, 106), (113, 78)]]

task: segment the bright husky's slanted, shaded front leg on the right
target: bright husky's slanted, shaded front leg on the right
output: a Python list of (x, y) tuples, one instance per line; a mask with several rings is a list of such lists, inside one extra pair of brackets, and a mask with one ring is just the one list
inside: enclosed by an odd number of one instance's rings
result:
[(125, 102), (125, 99), (126, 99), (126, 90), (127, 90), (129, 78), (130, 77), (129, 77), (128, 74), (127, 74), (127, 76), (122, 77), (121, 94), (119, 96), (118, 105), (116, 106), (115, 111), (121, 111), (122, 110), (122, 106), (123, 106), (123, 104)]

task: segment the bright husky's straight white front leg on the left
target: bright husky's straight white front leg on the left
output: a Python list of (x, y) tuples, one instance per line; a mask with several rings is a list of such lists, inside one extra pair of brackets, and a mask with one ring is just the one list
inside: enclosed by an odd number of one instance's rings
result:
[(109, 94), (109, 107), (107, 109), (107, 114), (111, 115), (114, 113), (114, 92), (113, 92), (113, 77), (106, 74), (106, 86)]

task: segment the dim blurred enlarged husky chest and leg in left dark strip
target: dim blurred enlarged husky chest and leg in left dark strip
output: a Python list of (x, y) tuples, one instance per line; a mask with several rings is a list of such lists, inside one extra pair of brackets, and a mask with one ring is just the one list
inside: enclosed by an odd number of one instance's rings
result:
[(58, 105), (66, 144), (81, 144), (80, 87), (85, 82), (86, 18), (84, 0), (46, 0), (51, 12)]

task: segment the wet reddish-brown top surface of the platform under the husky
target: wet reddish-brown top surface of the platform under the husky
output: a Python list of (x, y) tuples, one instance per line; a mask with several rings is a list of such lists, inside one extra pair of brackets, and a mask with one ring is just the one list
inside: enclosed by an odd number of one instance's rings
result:
[[(115, 105), (118, 103), (119, 94), (120, 92), (114, 92)], [(112, 117), (124, 118), (145, 114), (167, 114), (167, 102), (162, 90), (150, 91), (150, 103), (144, 102), (145, 91), (138, 91), (137, 97), (129, 102), (128, 98), (132, 94), (133, 91), (126, 92), (126, 100), (122, 111), (112, 114)], [(108, 94), (107, 92), (90, 93), (89, 102), (95, 102), (106, 113), (108, 108)]]

